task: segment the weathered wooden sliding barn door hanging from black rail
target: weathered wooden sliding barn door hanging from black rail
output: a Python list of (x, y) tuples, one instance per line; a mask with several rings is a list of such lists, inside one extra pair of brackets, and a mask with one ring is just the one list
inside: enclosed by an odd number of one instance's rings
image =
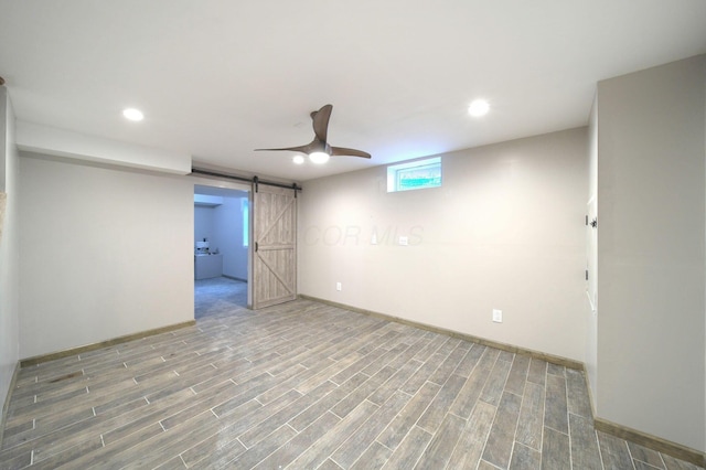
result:
[(293, 190), (253, 188), (252, 308), (297, 298), (297, 199)]

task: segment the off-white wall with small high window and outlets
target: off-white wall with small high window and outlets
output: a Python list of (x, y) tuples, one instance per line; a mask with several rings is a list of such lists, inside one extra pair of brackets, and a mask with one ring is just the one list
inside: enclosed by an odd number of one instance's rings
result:
[(584, 361), (586, 147), (579, 128), (443, 154), (439, 189), (307, 181), (299, 292)]

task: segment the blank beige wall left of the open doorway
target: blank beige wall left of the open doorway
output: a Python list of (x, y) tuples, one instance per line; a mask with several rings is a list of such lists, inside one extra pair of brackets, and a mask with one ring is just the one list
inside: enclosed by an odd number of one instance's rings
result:
[(20, 355), (193, 320), (193, 182), (20, 157)]

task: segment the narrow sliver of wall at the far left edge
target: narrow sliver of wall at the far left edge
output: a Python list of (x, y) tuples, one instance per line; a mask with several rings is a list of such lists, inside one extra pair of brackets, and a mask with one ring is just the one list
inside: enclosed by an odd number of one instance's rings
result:
[(8, 396), (20, 354), (19, 156), (14, 115), (8, 90), (0, 86), (0, 191), (7, 193), (0, 235), (0, 406)]

